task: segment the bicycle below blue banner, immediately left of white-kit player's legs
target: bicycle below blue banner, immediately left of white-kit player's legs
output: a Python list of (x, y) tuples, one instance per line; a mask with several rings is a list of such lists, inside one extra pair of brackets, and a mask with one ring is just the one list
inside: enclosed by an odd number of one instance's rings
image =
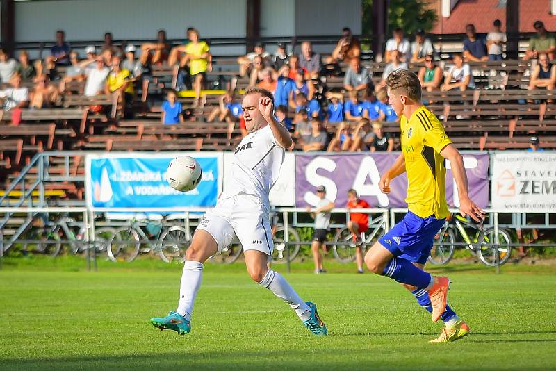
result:
[[(165, 228), (164, 222), (165, 219), (156, 223), (133, 219), (128, 226), (116, 229), (108, 242), (108, 258), (114, 262), (131, 262), (140, 252), (154, 252), (166, 263), (182, 263), (185, 260), (183, 247), (190, 242), (189, 233), (182, 226)], [(147, 233), (143, 227), (147, 229)], [(147, 247), (141, 249), (141, 242)]]

